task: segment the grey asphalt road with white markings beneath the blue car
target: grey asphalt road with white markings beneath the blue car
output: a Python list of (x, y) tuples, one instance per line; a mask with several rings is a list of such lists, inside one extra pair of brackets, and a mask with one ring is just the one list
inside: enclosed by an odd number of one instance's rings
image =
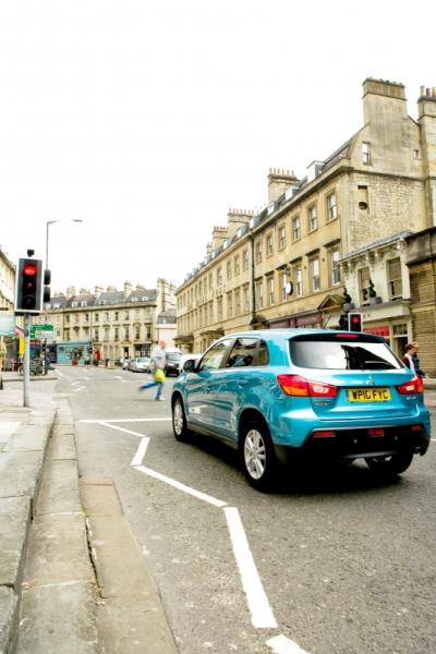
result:
[(59, 371), (81, 474), (113, 480), (181, 654), (436, 653), (434, 444), (389, 484), (354, 463), (264, 495), (232, 451), (175, 441), (172, 382), (156, 402), (143, 374)]

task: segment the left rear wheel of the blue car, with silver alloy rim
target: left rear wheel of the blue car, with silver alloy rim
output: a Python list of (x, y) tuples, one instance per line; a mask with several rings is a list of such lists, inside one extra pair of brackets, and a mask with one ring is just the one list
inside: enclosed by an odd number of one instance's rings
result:
[(264, 493), (271, 491), (278, 477), (278, 461), (267, 426), (251, 420), (242, 429), (241, 459), (249, 484)]

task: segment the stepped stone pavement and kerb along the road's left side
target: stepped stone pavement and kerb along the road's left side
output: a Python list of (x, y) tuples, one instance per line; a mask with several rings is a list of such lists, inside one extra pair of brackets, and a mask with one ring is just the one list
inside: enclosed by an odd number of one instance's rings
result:
[(3, 373), (0, 654), (177, 654), (158, 589), (117, 489), (78, 475), (57, 373)]

